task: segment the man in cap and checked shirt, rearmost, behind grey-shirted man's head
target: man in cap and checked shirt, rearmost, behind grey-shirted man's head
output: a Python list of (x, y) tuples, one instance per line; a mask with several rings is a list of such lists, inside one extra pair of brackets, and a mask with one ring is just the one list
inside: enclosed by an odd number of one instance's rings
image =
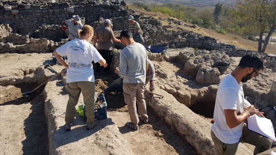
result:
[(142, 29), (139, 23), (134, 20), (133, 15), (130, 15), (128, 17), (128, 21), (129, 21), (129, 31), (132, 32), (134, 41), (144, 44), (145, 41), (141, 34)]

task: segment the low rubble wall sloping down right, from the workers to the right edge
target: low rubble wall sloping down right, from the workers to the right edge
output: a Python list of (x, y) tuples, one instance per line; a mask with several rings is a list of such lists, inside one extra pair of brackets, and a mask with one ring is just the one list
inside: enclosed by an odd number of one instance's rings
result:
[[(144, 23), (147, 18), (141, 18), (141, 23)], [(248, 53), (256, 53), (264, 62), (266, 67), (276, 67), (276, 56), (268, 55), (266, 53), (259, 53), (256, 51), (236, 49), (234, 45), (228, 45), (224, 43), (217, 43), (217, 41), (209, 36), (203, 36), (193, 31), (179, 30), (168, 31), (167, 28), (160, 26), (158, 21), (160, 19), (150, 18), (151, 25), (142, 25), (143, 37), (147, 40), (146, 45), (155, 44), (169, 44), (170, 48), (184, 48), (191, 47), (208, 51), (223, 51), (230, 57), (242, 57)], [(155, 25), (154, 25), (155, 24)]]

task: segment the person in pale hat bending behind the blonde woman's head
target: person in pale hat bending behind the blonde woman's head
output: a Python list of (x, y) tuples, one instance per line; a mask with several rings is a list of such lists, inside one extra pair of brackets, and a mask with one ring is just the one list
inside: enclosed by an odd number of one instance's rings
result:
[(63, 31), (66, 31), (66, 27), (64, 27), (65, 24), (69, 27), (68, 41), (73, 39), (79, 39), (77, 31), (80, 30), (83, 26), (81, 23), (81, 19), (78, 15), (73, 15), (72, 17), (73, 19), (63, 21), (61, 24), (61, 29)]

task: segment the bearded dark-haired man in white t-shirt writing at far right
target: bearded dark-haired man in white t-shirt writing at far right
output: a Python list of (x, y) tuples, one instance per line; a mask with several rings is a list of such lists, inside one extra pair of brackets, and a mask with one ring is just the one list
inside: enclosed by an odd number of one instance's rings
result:
[(254, 155), (271, 148), (272, 141), (249, 130), (244, 121), (254, 114), (264, 117), (245, 98), (242, 83), (259, 75), (264, 64), (256, 55), (244, 55), (239, 65), (220, 82), (211, 137), (215, 155), (235, 155), (240, 142), (256, 146)]

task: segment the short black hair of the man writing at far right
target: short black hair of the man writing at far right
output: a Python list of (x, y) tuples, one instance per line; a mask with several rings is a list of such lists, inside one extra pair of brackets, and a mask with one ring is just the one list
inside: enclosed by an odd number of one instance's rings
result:
[(239, 65), (242, 68), (253, 67), (255, 70), (263, 69), (263, 61), (254, 54), (246, 54), (242, 57)]

